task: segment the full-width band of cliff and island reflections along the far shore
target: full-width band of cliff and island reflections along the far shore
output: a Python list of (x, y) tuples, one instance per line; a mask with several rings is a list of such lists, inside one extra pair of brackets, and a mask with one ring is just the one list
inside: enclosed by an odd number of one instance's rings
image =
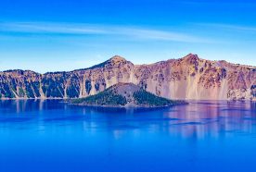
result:
[(146, 131), (194, 140), (251, 135), (255, 122), (255, 102), (191, 102), (152, 110), (81, 107), (59, 100), (0, 101), (2, 128), (104, 130), (115, 138)]

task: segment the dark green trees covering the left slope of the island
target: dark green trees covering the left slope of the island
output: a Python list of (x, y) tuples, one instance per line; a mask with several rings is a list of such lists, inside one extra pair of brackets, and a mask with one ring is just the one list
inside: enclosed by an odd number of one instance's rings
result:
[(110, 90), (99, 92), (83, 99), (75, 99), (71, 101), (72, 104), (86, 104), (86, 105), (125, 105), (127, 104), (126, 98), (122, 95), (115, 94)]

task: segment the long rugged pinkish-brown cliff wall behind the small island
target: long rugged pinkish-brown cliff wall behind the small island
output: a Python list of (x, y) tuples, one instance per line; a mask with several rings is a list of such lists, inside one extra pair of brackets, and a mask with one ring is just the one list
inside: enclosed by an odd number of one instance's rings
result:
[(151, 65), (134, 65), (121, 56), (92, 68), (39, 74), (0, 72), (1, 98), (75, 98), (132, 82), (169, 99), (230, 100), (256, 98), (256, 67), (186, 55)]

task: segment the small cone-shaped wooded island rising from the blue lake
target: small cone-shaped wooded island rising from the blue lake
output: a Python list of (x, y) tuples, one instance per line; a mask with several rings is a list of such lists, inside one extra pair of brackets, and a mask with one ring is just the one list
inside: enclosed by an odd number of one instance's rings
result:
[(117, 83), (103, 92), (86, 98), (72, 99), (71, 104), (118, 107), (163, 107), (186, 104), (184, 101), (171, 101), (147, 92), (134, 83)]

